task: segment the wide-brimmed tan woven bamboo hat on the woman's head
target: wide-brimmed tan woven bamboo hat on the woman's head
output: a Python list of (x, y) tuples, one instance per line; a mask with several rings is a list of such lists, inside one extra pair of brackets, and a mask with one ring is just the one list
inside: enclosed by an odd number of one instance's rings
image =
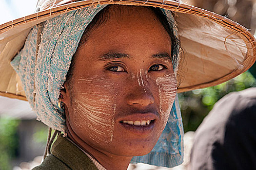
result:
[(178, 92), (218, 85), (249, 69), (256, 40), (245, 27), (213, 12), (175, 0), (39, 0), (37, 13), (0, 25), (0, 95), (26, 100), (10, 62), (31, 28), (61, 14), (96, 4), (144, 5), (173, 11), (184, 52)]

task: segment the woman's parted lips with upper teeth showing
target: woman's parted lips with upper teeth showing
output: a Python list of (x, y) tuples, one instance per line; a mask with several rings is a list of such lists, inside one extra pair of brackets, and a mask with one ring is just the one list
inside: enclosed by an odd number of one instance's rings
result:
[(121, 118), (119, 123), (127, 132), (146, 135), (153, 131), (156, 119), (158, 116), (154, 113), (135, 113)]

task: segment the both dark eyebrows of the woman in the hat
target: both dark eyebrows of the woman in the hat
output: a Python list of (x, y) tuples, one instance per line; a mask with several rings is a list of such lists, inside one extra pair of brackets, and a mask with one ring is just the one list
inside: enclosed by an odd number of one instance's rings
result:
[[(113, 60), (117, 58), (132, 58), (132, 56), (129, 54), (124, 54), (124, 53), (115, 52), (115, 51), (110, 51), (108, 53), (105, 53), (99, 56), (100, 61)], [(151, 58), (161, 58), (161, 59), (172, 62), (172, 58), (170, 54), (168, 54), (167, 52), (159, 52), (157, 54), (153, 54)]]

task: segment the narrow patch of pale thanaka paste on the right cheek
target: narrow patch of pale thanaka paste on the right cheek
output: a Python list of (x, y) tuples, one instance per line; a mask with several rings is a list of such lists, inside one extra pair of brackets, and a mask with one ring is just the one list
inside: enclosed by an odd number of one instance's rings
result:
[(160, 124), (163, 129), (168, 121), (174, 99), (177, 93), (177, 80), (175, 74), (167, 74), (163, 77), (158, 77), (156, 80), (159, 94), (159, 108), (160, 108)]

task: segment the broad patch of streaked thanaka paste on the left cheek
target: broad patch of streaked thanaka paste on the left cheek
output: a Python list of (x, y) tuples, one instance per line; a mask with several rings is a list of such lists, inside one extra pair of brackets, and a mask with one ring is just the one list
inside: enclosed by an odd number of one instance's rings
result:
[(117, 107), (114, 84), (102, 78), (78, 78), (77, 81), (78, 97), (73, 101), (76, 126), (85, 131), (89, 128), (86, 133), (97, 143), (111, 143)]

